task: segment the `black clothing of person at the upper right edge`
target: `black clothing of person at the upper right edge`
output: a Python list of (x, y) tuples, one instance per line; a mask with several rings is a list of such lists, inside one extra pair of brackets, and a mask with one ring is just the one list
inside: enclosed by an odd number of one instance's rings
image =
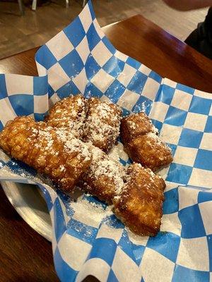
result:
[(209, 8), (204, 23), (199, 23), (185, 42), (204, 56), (212, 59), (212, 7)]

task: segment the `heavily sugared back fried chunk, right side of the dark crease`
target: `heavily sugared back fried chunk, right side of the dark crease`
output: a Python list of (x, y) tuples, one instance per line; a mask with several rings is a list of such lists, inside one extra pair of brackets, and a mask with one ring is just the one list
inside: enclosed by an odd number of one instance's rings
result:
[(94, 97), (88, 100), (88, 104), (83, 140), (108, 152), (119, 136), (122, 111), (119, 106)]

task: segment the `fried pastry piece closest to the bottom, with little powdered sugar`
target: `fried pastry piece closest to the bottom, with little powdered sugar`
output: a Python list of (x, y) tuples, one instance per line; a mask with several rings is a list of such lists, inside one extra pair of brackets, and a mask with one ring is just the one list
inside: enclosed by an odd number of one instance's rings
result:
[(149, 168), (132, 164), (122, 193), (114, 197), (114, 213), (131, 231), (156, 235), (163, 215), (165, 182)]

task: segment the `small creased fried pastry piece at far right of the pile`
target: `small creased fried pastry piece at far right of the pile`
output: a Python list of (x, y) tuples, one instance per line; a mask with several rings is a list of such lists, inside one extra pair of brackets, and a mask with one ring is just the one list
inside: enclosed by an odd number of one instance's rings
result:
[(157, 129), (143, 112), (122, 119), (121, 137), (129, 157), (157, 171), (173, 160), (172, 151), (156, 135)]

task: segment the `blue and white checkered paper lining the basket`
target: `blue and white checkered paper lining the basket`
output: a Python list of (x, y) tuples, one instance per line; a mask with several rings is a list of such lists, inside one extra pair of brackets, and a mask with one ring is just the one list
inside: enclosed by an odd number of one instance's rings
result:
[[(20, 115), (42, 120), (49, 106), (81, 92), (145, 110), (170, 144), (161, 231), (127, 231), (115, 216), (102, 222), (74, 210), (68, 195), (40, 183), (36, 171), (0, 151), (0, 180), (37, 183), (52, 218), (54, 264), (61, 281), (201, 281), (212, 279), (212, 94), (163, 79), (112, 46), (90, 2), (35, 56), (39, 77), (0, 75), (0, 130)], [(129, 159), (119, 142), (122, 164)], [(85, 198), (95, 201), (93, 197)]]

